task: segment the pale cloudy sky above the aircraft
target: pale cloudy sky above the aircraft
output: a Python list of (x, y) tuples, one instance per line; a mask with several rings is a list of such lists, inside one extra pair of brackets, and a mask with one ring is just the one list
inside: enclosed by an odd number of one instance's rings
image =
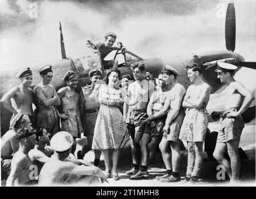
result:
[[(59, 21), (67, 57), (86, 52), (87, 39), (116, 32), (142, 58), (225, 50), (225, 0), (0, 1), (0, 72), (61, 60)], [(256, 1), (236, 0), (235, 52), (256, 61)]]

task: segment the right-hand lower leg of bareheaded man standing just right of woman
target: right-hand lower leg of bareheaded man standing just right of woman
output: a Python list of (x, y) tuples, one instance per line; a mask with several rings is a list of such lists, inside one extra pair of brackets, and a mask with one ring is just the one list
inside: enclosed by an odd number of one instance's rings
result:
[(150, 135), (149, 134), (143, 134), (142, 138), (140, 139), (139, 145), (140, 145), (140, 155), (141, 155), (141, 163), (142, 166), (147, 166), (149, 164), (149, 149), (148, 144), (150, 141)]

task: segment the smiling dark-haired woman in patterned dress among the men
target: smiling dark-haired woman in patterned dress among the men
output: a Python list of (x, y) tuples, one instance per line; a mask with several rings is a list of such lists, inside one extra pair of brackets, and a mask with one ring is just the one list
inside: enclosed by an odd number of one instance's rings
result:
[(101, 106), (92, 141), (92, 149), (103, 151), (107, 176), (111, 176), (112, 169), (114, 180), (119, 180), (117, 173), (119, 149), (130, 146), (126, 123), (118, 106), (124, 101), (129, 105), (134, 105), (139, 101), (139, 98), (134, 102), (128, 101), (126, 91), (115, 88), (119, 76), (119, 70), (113, 68), (106, 76), (106, 85), (101, 85), (97, 90)]

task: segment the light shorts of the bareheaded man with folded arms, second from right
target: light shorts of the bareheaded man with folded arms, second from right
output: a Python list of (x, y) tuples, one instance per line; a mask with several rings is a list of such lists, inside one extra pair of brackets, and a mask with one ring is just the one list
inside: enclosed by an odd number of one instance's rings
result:
[(180, 139), (188, 142), (204, 142), (207, 127), (206, 109), (190, 108), (180, 129)]

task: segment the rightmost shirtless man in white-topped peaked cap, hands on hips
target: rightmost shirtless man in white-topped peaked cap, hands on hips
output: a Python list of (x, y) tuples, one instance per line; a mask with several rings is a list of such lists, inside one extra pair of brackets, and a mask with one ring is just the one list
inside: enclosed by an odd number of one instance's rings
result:
[[(239, 182), (240, 157), (239, 142), (244, 120), (241, 114), (249, 108), (254, 96), (239, 82), (234, 80), (234, 72), (237, 69), (229, 63), (217, 62), (215, 72), (221, 82), (227, 84), (225, 98), (225, 111), (220, 116), (221, 127), (217, 137), (214, 150), (214, 157), (219, 164), (224, 165), (225, 172), (229, 175), (230, 182)], [(226, 159), (225, 152), (228, 152), (230, 160)]]

